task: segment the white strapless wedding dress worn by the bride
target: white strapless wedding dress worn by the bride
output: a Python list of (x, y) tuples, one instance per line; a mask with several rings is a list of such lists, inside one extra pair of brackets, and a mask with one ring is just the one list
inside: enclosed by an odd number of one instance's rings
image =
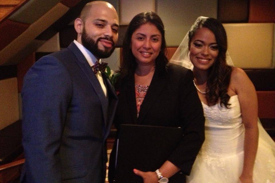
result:
[[(203, 105), (205, 142), (195, 160), (188, 183), (237, 183), (243, 168), (244, 126), (238, 96), (229, 109)], [(275, 183), (275, 143), (260, 122), (254, 165), (254, 183)]]

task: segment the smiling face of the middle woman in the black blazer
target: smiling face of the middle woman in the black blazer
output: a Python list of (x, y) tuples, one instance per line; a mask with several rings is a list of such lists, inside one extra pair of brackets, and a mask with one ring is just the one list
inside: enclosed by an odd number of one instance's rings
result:
[(155, 65), (160, 53), (162, 35), (152, 23), (145, 23), (136, 29), (131, 37), (131, 50), (137, 64)]

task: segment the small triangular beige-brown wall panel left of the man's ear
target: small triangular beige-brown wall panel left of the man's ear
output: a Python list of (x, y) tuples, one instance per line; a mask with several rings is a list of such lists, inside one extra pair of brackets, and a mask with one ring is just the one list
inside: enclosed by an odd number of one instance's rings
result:
[(60, 50), (59, 33), (46, 41), (36, 52), (55, 52)]

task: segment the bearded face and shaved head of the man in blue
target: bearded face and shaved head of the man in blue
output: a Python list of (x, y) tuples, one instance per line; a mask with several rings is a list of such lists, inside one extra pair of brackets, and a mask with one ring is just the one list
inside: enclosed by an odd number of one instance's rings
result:
[(119, 24), (115, 9), (108, 3), (97, 3), (90, 7), (83, 19), (81, 44), (97, 58), (109, 57), (118, 40)]

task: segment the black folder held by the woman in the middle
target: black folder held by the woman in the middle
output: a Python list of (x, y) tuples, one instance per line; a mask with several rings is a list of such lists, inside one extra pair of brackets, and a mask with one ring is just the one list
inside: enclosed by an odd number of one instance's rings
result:
[(133, 169), (156, 171), (169, 158), (182, 138), (175, 127), (122, 124), (116, 156), (116, 183), (143, 183)]

